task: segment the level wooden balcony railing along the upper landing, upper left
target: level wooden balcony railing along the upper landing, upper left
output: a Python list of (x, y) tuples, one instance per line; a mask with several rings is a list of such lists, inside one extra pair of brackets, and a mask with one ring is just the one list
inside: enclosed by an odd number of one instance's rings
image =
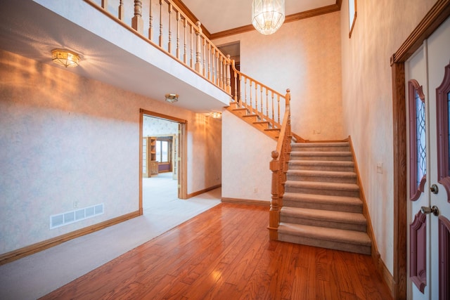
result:
[[(83, 0), (179, 63), (230, 93), (230, 56), (172, 0)], [(144, 33), (144, 28), (145, 33)]]

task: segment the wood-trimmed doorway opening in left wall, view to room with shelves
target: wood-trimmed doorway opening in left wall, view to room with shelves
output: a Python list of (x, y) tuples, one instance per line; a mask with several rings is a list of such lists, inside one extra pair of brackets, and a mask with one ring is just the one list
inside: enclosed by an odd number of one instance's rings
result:
[(187, 199), (186, 126), (184, 119), (141, 110), (140, 214), (167, 201)]

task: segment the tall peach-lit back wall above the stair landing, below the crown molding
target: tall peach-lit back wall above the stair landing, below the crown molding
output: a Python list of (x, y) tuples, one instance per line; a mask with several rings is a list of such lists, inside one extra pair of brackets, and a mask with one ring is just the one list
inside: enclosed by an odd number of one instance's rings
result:
[[(292, 92), (293, 131), (311, 140), (342, 139), (340, 13), (214, 40), (240, 41), (240, 70), (280, 93)], [(313, 134), (313, 131), (320, 134)]]

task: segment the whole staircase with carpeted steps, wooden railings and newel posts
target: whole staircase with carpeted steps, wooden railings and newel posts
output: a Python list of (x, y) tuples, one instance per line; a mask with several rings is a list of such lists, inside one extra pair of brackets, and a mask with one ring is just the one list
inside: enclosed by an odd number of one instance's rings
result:
[(305, 143), (291, 131), (289, 89), (282, 95), (236, 70), (234, 62), (231, 81), (227, 110), (277, 141), (269, 165), (269, 238), (370, 255), (349, 143)]

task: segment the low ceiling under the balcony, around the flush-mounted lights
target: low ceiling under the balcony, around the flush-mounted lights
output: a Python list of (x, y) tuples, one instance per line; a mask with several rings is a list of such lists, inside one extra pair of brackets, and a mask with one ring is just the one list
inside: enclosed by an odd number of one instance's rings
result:
[[(94, 9), (92, 11), (95, 12)], [(88, 15), (86, 13), (83, 18), (89, 18)], [(144, 44), (160, 53), (150, 44)], [(193, 112), (220, 111), (229, 100), (226, 93), (204, 79), (194, 78), (190, 83), (183, 81), (172, 72), (148, 63), (135, 53), (116, 46), (31, 0), (0, 0), (0, 48), (161, 102), (165, 102), (166, 93), (177, 93), (179, 101), (171, 105)], [(64, 68), (55, 65), (51, 60), (51, 50), (54, 48), (67, 48), (81, 54), (79, 66)], [(148, 48), (141, 51), (149, 51)], [(174, 62), (168, 56), (167, 60)], [(175, 71), (181, 68), (179, 72), (186, 74), (186, 67), (178, 63), (174, 65), (177, 68)], [(198, 86), (204, 87), (200, 89)]]

